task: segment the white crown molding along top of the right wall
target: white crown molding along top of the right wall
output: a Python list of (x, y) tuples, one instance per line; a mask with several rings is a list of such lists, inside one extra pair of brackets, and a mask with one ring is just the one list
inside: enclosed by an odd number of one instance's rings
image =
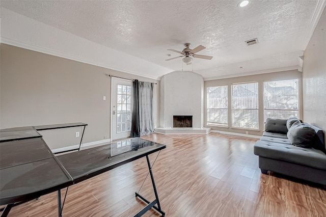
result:
[(326, 7), (326, 0), (318, 0), (315, 11), (310, 19), (309, 25), (307, 26), (304, 38), (302, 40), (302, 44), (301, 44), (302, 50), (305, 50), (307, 48), (308, 43), (312, 37), (312, 34), (316, 29), (317, 23), (325, 7)]

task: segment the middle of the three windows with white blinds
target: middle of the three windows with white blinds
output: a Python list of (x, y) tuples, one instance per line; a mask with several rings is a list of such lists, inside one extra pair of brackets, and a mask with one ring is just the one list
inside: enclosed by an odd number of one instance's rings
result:
[(258, 129), (258, 83), (232, 85), (232, 127)]

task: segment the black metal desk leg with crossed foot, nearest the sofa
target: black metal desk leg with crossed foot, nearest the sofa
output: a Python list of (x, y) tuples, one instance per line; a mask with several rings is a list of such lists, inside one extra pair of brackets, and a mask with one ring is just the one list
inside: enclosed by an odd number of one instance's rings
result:
[[(143, 196), (141, 196), (140, 194), (138, 194), (136, 192), (135, 193), (136, 197), (139, 197), (140, 199), (142, 199), (148, 205), (145, 206), (144, 209), (142, 209), (140, 212), (138, 212), (134, 216), (142, 216), (145, 212), (147, 212), (151, 208), (154, 208), (156, 211), (158, 211), (159, 213), (161, 213), (162, 216), (165, 216), (165, 212), (161, 209), (161, 205), (160, 205), (159, 200), (158, 200), (158, 194), (157, 194), (157, 190), (156, 190), (155, 180), (154, 180), (154, 176), (153, 176), (153, 172), (152, 172), (152, 168), (151, 168), (151, 164), (150, 164), (148, 155), (146, 155), (146, 159), (147, 159), (147, 165), (148, 165), (148, 169), (149, 169), (149, 174), (151, 176), (152, 185), (153, 185), (154, 194), (155, 194), (155, 198), (156, 199), (154, 201), (150, 202), (150, 201), (148, 201), (147, 199), (145, 199)], [(157, 206), (155, 206), (155, 204), (157, 204)]]

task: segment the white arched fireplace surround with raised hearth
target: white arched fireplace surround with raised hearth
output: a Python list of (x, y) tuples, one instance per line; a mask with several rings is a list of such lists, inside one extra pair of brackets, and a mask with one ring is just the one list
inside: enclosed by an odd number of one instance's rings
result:
[[(204, 78), (192, 71), (174, 71), (162, 76), (160, 82), (160, 126), (155, 131), (173, 130), (173, 116), (193, 116), (191, 129), (175, 129), (185, 133), (208, 133), (204, 123)], [(204, 131), (202, 131), (204, 129)], [(165, 131), (166, 131), (165, 130)], [(162, 132), (164, 133), (164, 132)]]

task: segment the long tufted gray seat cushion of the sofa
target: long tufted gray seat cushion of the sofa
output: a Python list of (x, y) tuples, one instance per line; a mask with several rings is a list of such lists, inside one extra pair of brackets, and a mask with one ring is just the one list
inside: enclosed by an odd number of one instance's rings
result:
[(313, 148), (259, 140), (254, 145), (254, 154), (326, 170), (326, 154)]

